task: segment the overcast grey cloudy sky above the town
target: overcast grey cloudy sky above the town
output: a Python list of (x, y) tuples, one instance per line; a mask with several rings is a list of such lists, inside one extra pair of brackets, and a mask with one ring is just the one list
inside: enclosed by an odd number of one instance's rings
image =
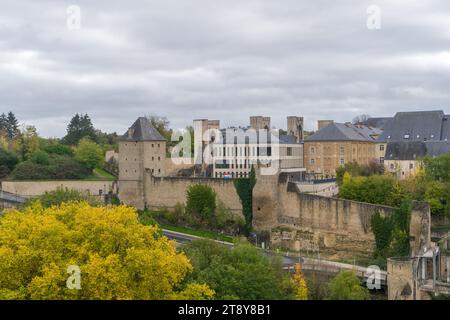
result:
[[(123, 133), (142, 115), (175, 128), (250, 115), (349, 121), (450, 113), (450, 2), (0, 0), (0, 111), (43, 136), (76, 112)], [(69, 5), (81, 27), (67, 27)], [(367, 8), (381, 9), (381, 29)]]

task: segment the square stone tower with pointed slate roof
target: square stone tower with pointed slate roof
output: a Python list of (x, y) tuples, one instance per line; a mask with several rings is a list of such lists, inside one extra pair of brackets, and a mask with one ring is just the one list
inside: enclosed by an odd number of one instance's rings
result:
[(119, 139), (119, 199), (144, 209), (145, 177), (165, 175), (166, 139), (145, 117), (139, 117)]

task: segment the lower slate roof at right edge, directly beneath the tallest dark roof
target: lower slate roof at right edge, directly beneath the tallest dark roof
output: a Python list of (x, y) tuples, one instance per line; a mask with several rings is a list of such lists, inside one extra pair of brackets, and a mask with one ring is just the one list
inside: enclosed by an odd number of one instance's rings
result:
[(385, 160), (417, 160), (450, 153), (450, 141), (393, 141), (386, 147)]

